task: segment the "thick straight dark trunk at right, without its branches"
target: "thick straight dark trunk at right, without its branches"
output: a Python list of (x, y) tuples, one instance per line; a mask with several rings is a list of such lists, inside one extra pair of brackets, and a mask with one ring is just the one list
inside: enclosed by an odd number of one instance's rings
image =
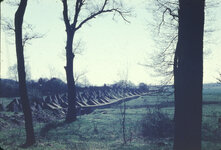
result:
[(205, 0), (179, 0), (174, 150), (200, 150)]

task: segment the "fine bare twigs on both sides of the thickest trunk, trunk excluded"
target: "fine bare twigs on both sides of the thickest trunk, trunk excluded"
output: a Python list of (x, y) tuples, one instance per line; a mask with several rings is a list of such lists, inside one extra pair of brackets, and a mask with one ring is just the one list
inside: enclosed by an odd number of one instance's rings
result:
[[(210, 22), (204, 30), (206, 35), (204, 40), (207, 43), (204, 47), (207, 51), (209, 45), (214, 42), (210, 41), (211, 33), (214, 31), (214, 26), (212, 26), (214, 20), (212, 20), (210, 12), (214, 11), (214, 8), (219, 5), (219, 2), (219, 0), (206, 2), (205, 11), (208, 16), (207, 20)], [(162, 84), (172, 84), (174, 79), (174, 57), (178, 41), (179, 1), (153, 0), (151, 3), (153, 5), (150, 5), (148, 10), (152, 11), (154, 21), (149, 23), (149, 25), (153, 32), (155, 43), (157, 43), (157, 50), (151, 55), (150, 61), (142, 65), (153, 69), (155, 76), (163, 77)]]

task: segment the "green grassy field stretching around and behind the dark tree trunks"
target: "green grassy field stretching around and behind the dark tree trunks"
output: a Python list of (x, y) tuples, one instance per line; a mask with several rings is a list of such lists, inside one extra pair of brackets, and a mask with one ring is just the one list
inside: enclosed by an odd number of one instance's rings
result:
[[(203, 105), (203, 150), (221, 149), (221, 88), (204, 89), (204, 101), (217, 102)], [(10, 101), (10, 100), (1, 100)], [(77, 121), (64, 124), (63, 120), (35, 121), (36, 144), (34, 150), (170, 150), (173, 146), (173, 96), (143, 96), (126, 102), (125, 137), (122, 132), (124, 105), (97, 109), (79, 116)], [(164, 105), (154, 105), (164, 103)], [(20, 149), (25, 141), (24, 122), (13, 123), (22, 113), (0, 112), (0, 146), (3, 149)], [(165, 123), (167, 122), (167, 123)], [(148, 124), (145, 131), (144, 123)], [(157, 130), (161, 130), (159, 133)], [(154, 132), (152, 132), (154, 131)], [(169, 132), (170, 131), (170, 132)], [(162, 134), (163, 133), (163, 134)]]

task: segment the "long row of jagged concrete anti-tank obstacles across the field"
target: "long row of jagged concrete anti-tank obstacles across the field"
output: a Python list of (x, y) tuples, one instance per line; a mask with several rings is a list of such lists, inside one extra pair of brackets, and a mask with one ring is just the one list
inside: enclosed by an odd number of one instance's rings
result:
[[(147, 91), (140, 89), (129, 88), (114, 88), (114, 87), (90, 87), (82, 88), (77, 91), (77, 107), (82, 109), (93, 109), (109, 107), (113, 104), (118, 104), (122, 100), (136, 98)], [(52, 111), (62, 111), (68, 107), (67, 93), (43, 96), (39, 100), (34, 100), (31, 103), (31, 108), (35, 110), (49, 109)], [(22, 111), (20, 100), (14, 99), (6, 106), (7, 111)]]

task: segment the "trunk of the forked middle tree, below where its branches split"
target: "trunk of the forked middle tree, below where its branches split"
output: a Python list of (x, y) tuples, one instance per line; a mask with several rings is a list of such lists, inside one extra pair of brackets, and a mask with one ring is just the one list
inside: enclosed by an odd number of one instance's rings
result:
[(68, 86), (68, 112), (66, 115), (66, 122), (70, 123), (76, 120), (76, 87), (73, 74), (73, 61), (74, 54), (72, 52), (72, 44), (74, 39), (74, 32), (67, 30), (67, 43), (66, 43), (66, 77)]

